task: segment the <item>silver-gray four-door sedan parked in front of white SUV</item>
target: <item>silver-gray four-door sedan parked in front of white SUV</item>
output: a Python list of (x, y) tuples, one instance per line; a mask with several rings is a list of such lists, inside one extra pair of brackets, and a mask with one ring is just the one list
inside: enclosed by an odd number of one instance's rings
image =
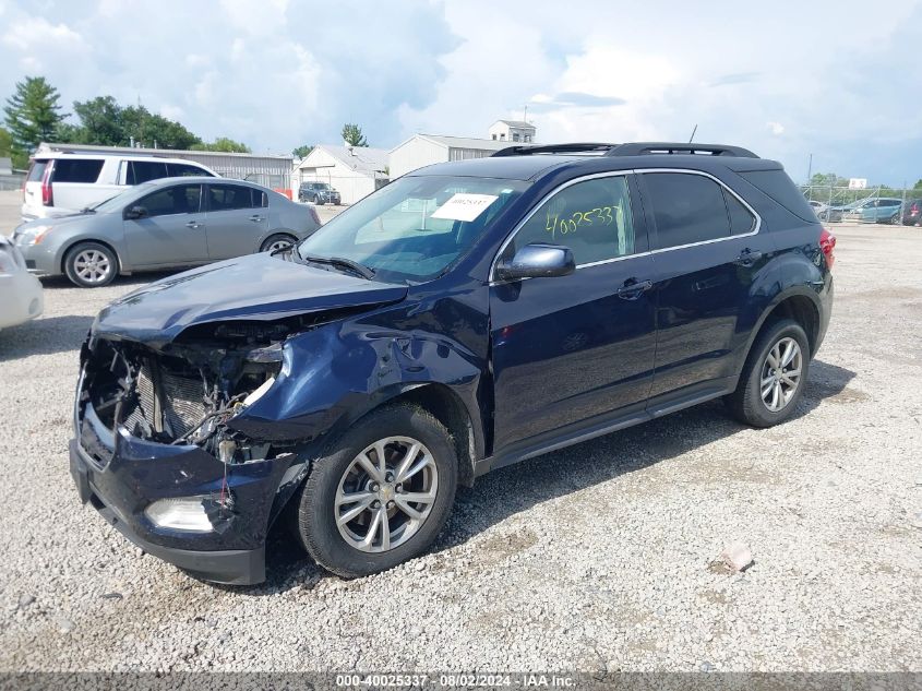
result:
[(319, 227), (314, 209), (259, 184), (185, 177), (143, 182), (80, 213), (24, 223), (13, 242), (31, 272), (98, 288), (134, 271), (284, 249)]

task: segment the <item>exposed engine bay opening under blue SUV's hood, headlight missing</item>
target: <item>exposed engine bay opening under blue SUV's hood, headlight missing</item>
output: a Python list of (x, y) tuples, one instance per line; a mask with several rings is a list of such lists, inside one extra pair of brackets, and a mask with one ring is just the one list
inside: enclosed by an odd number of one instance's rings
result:
[(194, 444), (226, 463), (266, 458), (227, 421), (255, 403), (282, 369), (285, 323), (203, 324), (160, 350), (97, 339), (86, 361), (81, 402), (116, 430), (164, 444)]

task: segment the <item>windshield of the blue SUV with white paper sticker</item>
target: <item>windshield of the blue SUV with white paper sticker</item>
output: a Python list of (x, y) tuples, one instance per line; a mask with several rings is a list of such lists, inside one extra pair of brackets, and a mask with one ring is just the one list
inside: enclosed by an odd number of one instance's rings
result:
[(298, 252), (349, 259), (382, 281), (431, 279), (464, 257), (527, 187), (493, 178), (398, 178), (322, 226)]

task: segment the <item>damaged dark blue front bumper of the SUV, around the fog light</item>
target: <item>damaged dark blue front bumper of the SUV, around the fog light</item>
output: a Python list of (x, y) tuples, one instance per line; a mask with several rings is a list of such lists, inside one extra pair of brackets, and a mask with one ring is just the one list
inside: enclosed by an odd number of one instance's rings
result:
[[(87, 405), (70, 442), (80, 500), (145, 552), (193, 575), (230, 585), (265, 580), (265, 539), (289, 463), (282, 458), (225, 464), (199, 446), (172, 445), (107, 429)], [(160, 499), (227, 492), (234, 507), (206, 533), (154, 524), (145, 510)]]

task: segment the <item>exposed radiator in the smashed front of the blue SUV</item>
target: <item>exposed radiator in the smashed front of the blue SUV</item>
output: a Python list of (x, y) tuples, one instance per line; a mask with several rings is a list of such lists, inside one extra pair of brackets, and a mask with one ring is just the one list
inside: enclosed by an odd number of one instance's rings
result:
[(137, 405), (125, 418), (125, 427), (166, 432), (173, 439), (185, 436), (208, 413), (201, 379), (178, 374), (146, 359), (137, 373)]

